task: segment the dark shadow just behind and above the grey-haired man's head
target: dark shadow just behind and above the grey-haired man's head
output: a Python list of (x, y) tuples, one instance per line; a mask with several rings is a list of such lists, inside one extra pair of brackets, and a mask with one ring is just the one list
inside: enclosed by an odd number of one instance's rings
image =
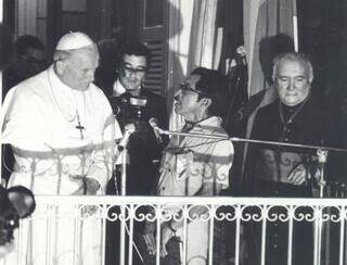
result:
[(284, 52), (294, 52), (293, 38), (285, 34), (269, 36), (259, 42), (259, 62), (265, 78), (269, 85), (273, 84), (272, 67), (277, 55)]

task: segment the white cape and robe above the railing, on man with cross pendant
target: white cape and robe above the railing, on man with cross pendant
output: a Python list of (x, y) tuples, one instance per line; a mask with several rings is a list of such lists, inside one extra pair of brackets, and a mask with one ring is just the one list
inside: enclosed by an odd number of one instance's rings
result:
[[(3, 111), (2, 142), (14, 147), (17, 162), (11, 184), (27, 186), (35, 194), (70, 194), (78, 184), (68, 176), (87, 175), (104, 189), (112, 173), (105, 143), (118, 137), (110, 103), (98, 87), (74, 91), (50, 67), (10, 90)], [(82, 131), (76, 128), (78, 118)], [(34, 181), (41, 181), (42, 174), (54, 178), (49, 187), (33, 182), (31, 175), (40, 175)]]

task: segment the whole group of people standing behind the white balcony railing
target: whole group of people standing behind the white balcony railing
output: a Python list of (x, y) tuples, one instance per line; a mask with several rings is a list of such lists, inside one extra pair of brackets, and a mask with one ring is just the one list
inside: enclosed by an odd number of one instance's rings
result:
[[(193, 70), (177, 89), (175, 112), (184, 118), (181, 132), (218, 135), (221, 139), (189, 135), (168, 139), (158, 135), (151, 125), (154, 121), (155, 126), (167, 129), (168, 112), (165, 98), (145, 87), (151, 66), (151, 53), (145, 45), (133, 39), (121, 41), (111, 88), (100, 88), (94, 84), (94, 79), (100, 80), (95, 71), (103, 60), (100, 60), (98, 45), (83, 33), (64, 35), (55, 47), (53, 63), (47, 68), (44, 48), (37, 38), (23, 36), (15, 48), (17, 60), (4, 71), (5, 98), (1, 115), (2, 143), (11, 146), (15, 161), (13, 166), (8, 166), (11, 172), (7, 184), (9, 188), (24, 186), (35, 195), (120, 194), (124, 176), (119, 161), (121, 150), (117, 144), (128, 134), (127, 125), (133, 124), (136, 130), (127, 144), (129, 155), (124, 194), (233, 195), (228, 190), (233, 186), (231, 179), (235, 176), (230, 176), (235, 166), (237, 173), (242, 173), (237, 180), (237, 194), (312, 197), (319, 163), (310, 149), (281, 144), (248, 146), (246, 150), (236, 149), (245, 153), (245, 160), (236, 161), (242, 165), (233, 165), (234, 148), (224, 128), (231, 94), (228, 78), (220, 72), (205, 67)], [(259, 108), (260, 101), (252, 106), (257, 109), (257, 113), (250, 138), (329, 146), (329, 114), (313, 97), (312, 80), (313, 67), (306, 55), (293, 51), (278, 54), (272, 67), (272, 89), (278, 99), (262, 108)], [(11, 161), (8, 156), (12, 153), (4, 155)], [(118, 209), (112, 211), (117, 212)], [(204, 216), (206, 211), (206, 207), (195, 206), (189, 214)], [(170, 209), (167, 214), (182, 213)], [(30, 230), (31, 237), (27, 235), (25, 239), (31, 242), (27, 251), (31, 251), (33, 256), (46, 248), (44, 240), (37, 240), (46, 232), (39, 226), (34, 222), (25, 228)], [(74, 245), (67, 236), (68, 227), (73, 225), (55, 226), (55, 230), (64, 226), (67, 231), (56, 235), (56, 255), (63, 256), (62, 263), (57, 264), (69, 264)], [(285, 264), (287, 224), (268, 226), (271, 232), (267, 239), (266, 264)], [(155, 222), (136, 225), (134, 232), (144, 240), (144, 264), (155, 264), (157, 227)], [(190, 222), (187, 231), (183, 231), (183, 222), (175, 219), (164, 222), (159, 227), (163, 264), (181, 264), (180, 240), (184, 232), (189, 264), (207, 264), (208, 222)], [(312, 248), (311, 230), (310, 224), (296, 225), (294, 240), (306, 240), (307, 243), (306, 248), (297, 248), (293, 264), (312, 262), (307, 251), (307, 248)], [(112, 252), (119, 243), (112, 240), (118, 237), (119, 230), (111, 225), (107, 231), (111, 237), (107, 239), (111, 245), (107, 252)], [(100, 264), (98, 251), (102, 240), (98, 234), (98, 224), (88, 224), (81, 245), (86, 253), (82, 264)], [(216, 229), (214, 235), (216, 242), (222, 241), (224, 236), (221, 229), (219, 232)], [(246, 264), (259, 263), (259, 225), (246, 226)], [(226, 253), (217, 248), (214, 252), (214, 264), (227, 264)], [(117, 258), (117, 254), (106, 254), (110, 264), (116, 264)], [(40, 262), (43, 260), (35, 264)], [(140, 261), (134, 262), (141, 264)]]

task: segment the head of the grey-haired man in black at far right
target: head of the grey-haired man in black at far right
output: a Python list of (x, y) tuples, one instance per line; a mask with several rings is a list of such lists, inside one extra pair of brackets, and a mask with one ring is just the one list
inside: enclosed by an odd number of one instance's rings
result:
[(295, 106), (310, 94), (313, 68), (306, 55), (287, 52), (274, 59), (272, 79), (281, 102)]

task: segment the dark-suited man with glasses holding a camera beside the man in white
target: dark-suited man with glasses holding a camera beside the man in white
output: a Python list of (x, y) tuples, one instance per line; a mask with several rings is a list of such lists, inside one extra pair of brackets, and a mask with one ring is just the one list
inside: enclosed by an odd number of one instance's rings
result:
[(163, 147), (149, 119), (155, 117), (160, 128), (168, 125), (165, 99), (144, 86), (149, 64), (150, 51), (143, 43), (125, 41), (118, 79), (108, 96), (121, 129), (128, 123), (134, 123), (137, 127), (128, 144), (127, 194), (149, 195), (153, 190), (157, 175), (155, 161), (160, 159)]

